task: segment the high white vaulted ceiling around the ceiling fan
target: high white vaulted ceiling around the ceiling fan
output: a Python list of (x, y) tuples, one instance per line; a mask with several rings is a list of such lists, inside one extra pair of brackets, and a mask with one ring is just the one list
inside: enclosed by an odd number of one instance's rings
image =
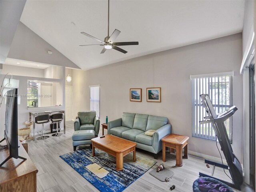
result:
[[(80, 34), (107, 36), (107, 0), (27, 0), (20, 21), (83, 70), (242, 32), (244, 0), (110, 0), (110, 34), (128, 53)], [(75, 24), (72, 24), (72, 22)]]

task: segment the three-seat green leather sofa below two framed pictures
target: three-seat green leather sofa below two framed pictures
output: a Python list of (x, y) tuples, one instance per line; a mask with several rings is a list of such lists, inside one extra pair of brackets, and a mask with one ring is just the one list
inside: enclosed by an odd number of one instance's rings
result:
[[(156, 131), (148, 136), (147, 130)], [(124, 112), (122, 118), (108, 122), (108, 134), (136, 142), (137, 148), (152, 152), (156, 159), (162, 150), (161, 139), (170, 133), (171, 124), (166, 117)]]

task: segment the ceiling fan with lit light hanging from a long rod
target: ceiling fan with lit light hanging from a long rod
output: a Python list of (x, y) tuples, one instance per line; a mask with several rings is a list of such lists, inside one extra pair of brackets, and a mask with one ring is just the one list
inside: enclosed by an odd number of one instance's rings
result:
[(81, 32), (82, 34), (93, 38), (99, 42), (101, 42), (102, 44), (94, 44), (94, 45), (80, 45), (80, 46), (96, 46), (96, 45), (100, 45), (100, 46), (104, 46), (104, 48), (102, 49), (102, 51), (100, 52), (100, 54), (104, 53), (107, 49), (115, 49), (117, 51), (120, 51), (122, 53), (127, 53), (126, 50), (123, 50), (121, 48), (119, 48), (118, 46), (124, 46), (124, 45), (138, 45), (139, 42), (114, 42), (114, 40), (117, 38), (117, 36), (120, 34), (120, 31), (115, 29), (114, 32), (112, 33), (111, 36), (109, 36), (109, 0), (108, 0), (108, 36), (106, 36), (104, 38), (104, 41), (99, 40), (97, 38), (95, 38), (94, 36), (91, 36), (85, 32)]

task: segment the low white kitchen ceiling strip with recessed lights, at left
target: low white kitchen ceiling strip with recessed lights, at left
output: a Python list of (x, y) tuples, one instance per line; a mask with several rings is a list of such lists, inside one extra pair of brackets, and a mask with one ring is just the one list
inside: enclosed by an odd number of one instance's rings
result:
[(11, 59), (11, 58), (6, 58), (5, 64), (20, 66), (20, 67), (38, 68), (38, 69), (46, 69), (50, 67), (50, 65), (46, 65), (42, 63), (23, 61), (23, 60)]

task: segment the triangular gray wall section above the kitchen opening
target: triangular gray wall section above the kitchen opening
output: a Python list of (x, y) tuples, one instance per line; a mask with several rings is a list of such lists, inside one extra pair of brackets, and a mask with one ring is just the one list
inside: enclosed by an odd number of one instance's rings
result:
[[(52, 54), (48, 54), (48, 51), (52, 51)], [(19, 23), (16, 30), (8, 58), (79, 69), (76, 64), (62, 55), (22, 22)]]

